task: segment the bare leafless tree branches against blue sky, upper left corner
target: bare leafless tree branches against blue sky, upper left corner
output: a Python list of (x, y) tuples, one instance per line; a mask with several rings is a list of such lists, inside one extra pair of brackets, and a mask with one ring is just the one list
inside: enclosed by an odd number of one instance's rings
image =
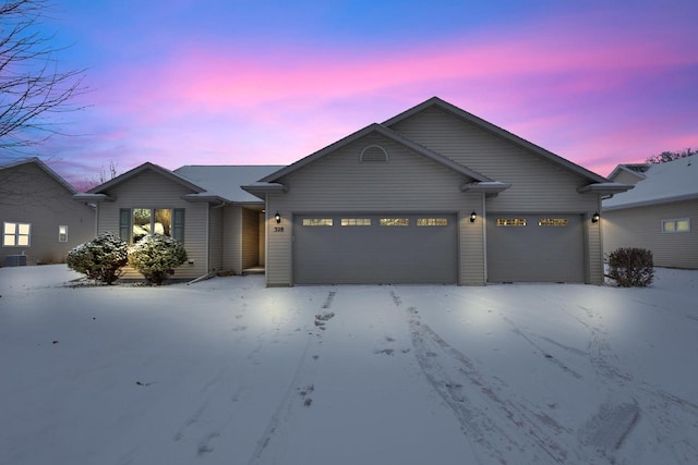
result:
[(49, 7), (48, 0), (0, 3), (0, 160), (65, 134), (51, 118), (83, 108), (72, 99), (86, 90), (84, 70), (61, 70), (62, 48), (40, 30)]

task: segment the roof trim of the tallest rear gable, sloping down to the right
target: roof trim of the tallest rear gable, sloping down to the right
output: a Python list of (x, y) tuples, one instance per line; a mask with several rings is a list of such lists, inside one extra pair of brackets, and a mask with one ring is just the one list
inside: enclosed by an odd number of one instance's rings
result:
[(576, 163), (573, 163), (571, 161), (562, 158), (555, 154), (553, 154), (550, 150), (546, 150), (535, 144), (532, 144), (528, 140), (526, 140), (525, 138), (521, 138), (519, 136), (517, 136), (516, 134), (513, 134), (495, 124), (490, 123), (489, 121), (483, 120), (482, 118), (476, 117), (472, 113), (469, 113), (452, 103), (448, 103), (447, 101), (442, 100), (438, 97), (432, 97), (429, 100), (410, 108), (409, 110), (404, 111), (402, 113), (390, 118), (389, 120), (385, 121), (383, 123), (384, 126), (390, 127), (410, 117), (413, 117), (417, 113), (420, 113), (422, 111), (424, 111), (428, 108), (431, 107), (437, 107), (450, 114), (454, 114), (455, 117), (467, 121), (476, 126), (478, 126), (479, 129), (496, 136), (500, 137), (510, 144), (514, 144), (520, 148), (524, 148), (528, 151), (531, 151), (535, 155), (538, 155), (539, 157), (549, 160), (559, 167), (562, 167), (563, 169), (566, 169), (568, 171), (571, 171), (573, 173), (580, 175), (585, 179), (587, 179), (589, 182), (592, 183), (607, 183), (609, 180), (592, 172), (587, 170), (586, 168), (582, 168)]

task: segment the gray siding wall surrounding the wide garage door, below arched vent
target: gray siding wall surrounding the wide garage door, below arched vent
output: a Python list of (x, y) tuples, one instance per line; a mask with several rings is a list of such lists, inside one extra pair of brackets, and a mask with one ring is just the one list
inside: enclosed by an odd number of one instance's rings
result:
[[(388, 162), (360, 162), (361, 150), (377, 144)], [(470, 223), (472, 210), (481, 211), (482, 195), (467, 194), (460, 185), (471, 182), (453, 170), (380, 135), (371, 135), (318, 159), (281, 180), (287, 193), (268, 195), (267, 284), (290, 285), (292, 278), (293, 213), (314, 212), (448, 212), (460, 218), (459, 283), (483, 284), (481, 221)], [(274, 215), (279, 212), (281, 222)]]

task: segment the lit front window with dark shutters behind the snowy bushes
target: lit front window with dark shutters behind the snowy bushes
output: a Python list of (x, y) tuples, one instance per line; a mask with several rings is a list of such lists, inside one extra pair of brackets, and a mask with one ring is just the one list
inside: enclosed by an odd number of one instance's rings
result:
[(119, 210), (119, 236), (136, 243), (148, 234), (161, 234), (184, 242), (183, 208), (122, 208)]

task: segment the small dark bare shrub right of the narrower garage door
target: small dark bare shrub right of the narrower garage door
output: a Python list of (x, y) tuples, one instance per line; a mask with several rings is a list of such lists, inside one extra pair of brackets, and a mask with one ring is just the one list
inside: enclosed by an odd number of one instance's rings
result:
[(609, 278), (621, 287), (646, 287), (654, 279), (652, 252), (621, 247), (609, 255)]

